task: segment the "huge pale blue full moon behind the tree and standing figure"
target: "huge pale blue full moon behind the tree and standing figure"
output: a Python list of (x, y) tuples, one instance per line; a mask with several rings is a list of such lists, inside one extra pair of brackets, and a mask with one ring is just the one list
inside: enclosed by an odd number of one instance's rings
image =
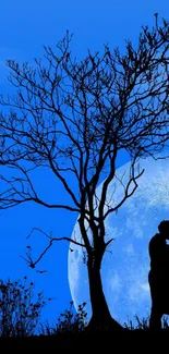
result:
[[(169, 219), (169, 166), (168, 160), (148, 157), (140, 160), (140, 170), (145, 169), (137, 180), (137, 188), (118, 209), (106, 219), (106, 241), (114, 240), (105, 253), (101, 279), (105, 296), (112, 317), (121, 325), (147, 318), (150, 313), (148, 285), (149, 240), (158, 232), (161, 220)], [(109, 185), (107, 202), (117, 205), (123, 197), (123, 185), (129, 180), (130, 162), (120, 167), (117, 178)], [(122, 181), (122, 183), (120, 182)], [(102, 183), (97, 187), (99, 198)], [(133, 187), (133, 186), (132, 186)], [(88, 233), (89, 237), (89, 233)], [(76, 222), (72, 239), (81, 242)], [(87, 269), (82, 247), (70, 245), (68, 277), (75, 308), (86, 302), (87, 319), (92, 314)]]

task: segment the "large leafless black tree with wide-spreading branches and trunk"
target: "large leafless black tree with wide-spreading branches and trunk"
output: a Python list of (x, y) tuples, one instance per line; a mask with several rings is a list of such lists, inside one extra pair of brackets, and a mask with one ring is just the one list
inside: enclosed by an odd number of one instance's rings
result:
[[(156, 14), (154, 27), (142, 28), (136, 49), (126, 41), (124, 54), (106, 45), (102, 54), (88, 50), (79, 62), (72, 59), (70, 41), (67, 33), (57, 45), (59, 54), (45, 47), (45, 64), (35, 59), (35, 68), (8, 61), (9, 80), (17, 93), (0, 100), (9, 109), (0, 114), (0, 163), (4, 169), (0, 208), (35, 202), (79, 213), (82, 243), (49, 236), (48, 247), (36, 261), (28, 249), (29, 266), (35, 268), (53, 241), (82, 246), (87, 255), (93, 310), (88, 327), (122, 329), (110, 315), (100, 278), (104, 254), (113, 240), (106, 240), (105, 221), (135, 192), (144, 172), (137, 170), (138, 159), (155, 157), (168, 142), (169, 23), (162, 20), (159, 25)], [(108, 203), (107, 191), (116, 179), (121, 150), (131, 158), (129, 181), (122, 199)], [(62, 183), (69, 205), (49, 204), (37, 193), (32, 171), (41, 167)], [(11, 179), (5, 175), (7, 168), (14, 171)], [(106, 179), (98, 198), (96, 188), (102, 172)], [(69, 184), (70, 173), (77, 193)]]

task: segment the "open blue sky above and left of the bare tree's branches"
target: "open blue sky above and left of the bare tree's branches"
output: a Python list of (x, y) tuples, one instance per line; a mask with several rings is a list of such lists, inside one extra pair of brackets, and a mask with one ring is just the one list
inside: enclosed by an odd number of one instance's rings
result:
[[(154, 23), (154, 13), (168, 19), (168, 0), (1, 0), (0, 2), (0, 91), (11, 93), (7, 81), (7, 59), (33, 62), (41, 57), (45, 46), (55, 46), (69, 29), (73, 33), (72, 52), (83, 58), (89, 48), (102, 50), (104, 44), (110, 49), (123, 48), (124, 39), (136, 42), (142, 25)], [(121, 156), (118, 164), (126, 162)], [(0, 171), (1, 173), (1, 171)], [(57, 196), (67, 202), (67, 195), (59, 183), (48, 172), (37, 174), (37, 184), (43, 195)], [(75, 188), (75, 186), (74, 186)], [(53, 236), (71, 236), (77, 215), (63, 210), (49, 210), (27, 204), (0, 212), (0, 278), (19, 279), (28, 276), (37, 291), (56, 297), (44, 309), (44, 318), (50, 322), (69, 307), (71, 293), (68, 282), (68, 252), (65, 242), (57, 243), (46, 255), (38, 269), (47, 269), (44, 274), (29, 269), (19, 254), (24, 255), (28, 244), (26, 235), (33, 227), (52, 231)], [(35, 257), (46, 246), (47, 240), (35, 233), (29, 240)]]

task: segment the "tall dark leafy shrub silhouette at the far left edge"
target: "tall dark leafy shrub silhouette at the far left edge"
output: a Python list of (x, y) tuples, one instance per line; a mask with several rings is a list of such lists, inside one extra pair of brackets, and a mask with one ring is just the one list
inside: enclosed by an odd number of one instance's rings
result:
[(0, 335), (28, 337), (33, 335), (46, 305), (43, 292), (38, 293), (37, 301), (33, 302), (35, 285), (33, 282), (26, 288), (20, 280), (0, 280)]

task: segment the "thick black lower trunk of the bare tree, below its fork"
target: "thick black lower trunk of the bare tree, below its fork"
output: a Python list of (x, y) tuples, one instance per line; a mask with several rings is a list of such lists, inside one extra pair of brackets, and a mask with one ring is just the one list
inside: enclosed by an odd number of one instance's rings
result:
[(92, 318), (88, 322), (88, 330), (124, 330), (110, 315), (108, 304), (105, 298), (99, 264), (93, 265), (92, 261), (87, 264), (89, 295), (92, 304)]

